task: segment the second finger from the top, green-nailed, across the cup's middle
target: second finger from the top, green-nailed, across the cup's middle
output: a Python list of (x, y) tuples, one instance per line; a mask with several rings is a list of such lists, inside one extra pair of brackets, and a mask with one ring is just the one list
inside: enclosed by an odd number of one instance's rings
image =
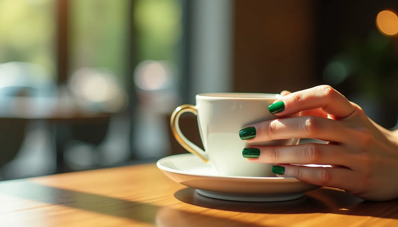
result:
[[(250, 136), (246, 136), (249, 135)], [(246, 126), (239, 136), (246, 142), (264, 142), (290, 138), (312, 138), (338, 143), (348, 143), (353, 138), (365, 139), (365, 133), (354, 130), (345, 122), (315, 116), (300, 116), (267, 120)]]

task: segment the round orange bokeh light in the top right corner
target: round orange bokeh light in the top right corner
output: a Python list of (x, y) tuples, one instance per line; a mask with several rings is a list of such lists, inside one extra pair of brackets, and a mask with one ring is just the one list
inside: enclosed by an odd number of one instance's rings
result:
[(392, 10), (383, 10), (378, 13), (376, 17), (376, 25), (383, 35), (398, 35), (398, 16)]

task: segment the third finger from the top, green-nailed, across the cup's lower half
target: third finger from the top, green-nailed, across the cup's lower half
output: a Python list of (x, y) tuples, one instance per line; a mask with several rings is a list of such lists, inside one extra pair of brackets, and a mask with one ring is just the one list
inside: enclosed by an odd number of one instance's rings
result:
[(242, 151), (259, 153), (257, 158), (248, 158), (256, 163), (287, 163), (297, 165), (342, 165), (355, 162), (345, 147), (340, 145), (308, 143), (291, 146), (251, 146)]

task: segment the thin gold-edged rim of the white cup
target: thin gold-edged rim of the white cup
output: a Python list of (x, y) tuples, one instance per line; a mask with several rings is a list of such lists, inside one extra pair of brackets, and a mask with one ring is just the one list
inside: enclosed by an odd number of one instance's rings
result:
[[(238, 97), (241, 96), (241, 97)], [(246, 96), (246, 97), (245, 97)], [(253, 97), (250, 97), (253, 96)], [(256, 97), (258, 96), (258, 97)], [(261, 97), (262, 96), (262, 97)], [(251, 93), (251, 92), (214, 92), (214, 93), (199, 93), (195, 97), (201, 99), (243, 99), (243, 100), (270, 100), (279, 99), (280, 94), (276, 93)]]

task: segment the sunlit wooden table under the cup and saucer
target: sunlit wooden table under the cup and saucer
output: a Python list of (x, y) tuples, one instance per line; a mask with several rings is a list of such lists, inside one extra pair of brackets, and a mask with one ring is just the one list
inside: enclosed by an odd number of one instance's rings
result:
[(155, 164), (0, 182), (0, 226), (398, 226), (398, 200), (365, 202), (320, 188), (288, 202), (195, 194)]

